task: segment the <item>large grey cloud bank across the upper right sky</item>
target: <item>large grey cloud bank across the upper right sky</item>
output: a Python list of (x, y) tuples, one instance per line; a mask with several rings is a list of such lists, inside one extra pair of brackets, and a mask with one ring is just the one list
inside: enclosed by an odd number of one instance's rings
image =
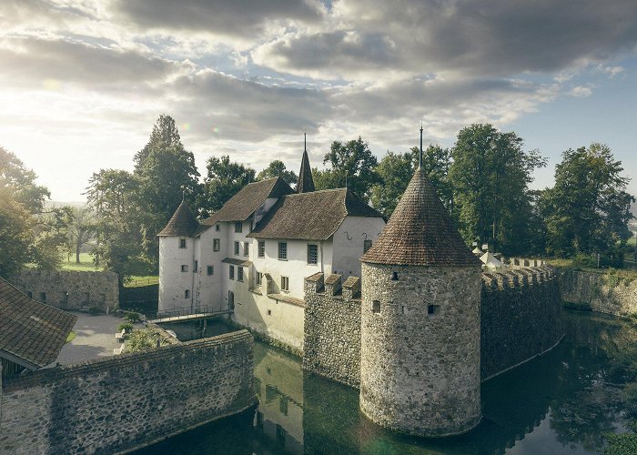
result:
[[(334, 2), (325, 30), (258, 46), (259, 65), (295, 75), (503, 76), (605, 61), (637, 44), (637, 3), (617, 0)], [(354, 32), (355, 31), (355, 32)], [(348, 40), (349, 35), (355, 39)]]

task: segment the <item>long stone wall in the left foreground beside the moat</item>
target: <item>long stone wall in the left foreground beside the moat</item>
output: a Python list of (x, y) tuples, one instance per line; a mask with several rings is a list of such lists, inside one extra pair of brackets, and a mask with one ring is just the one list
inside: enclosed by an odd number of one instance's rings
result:
[(246, 330), (2, 385), (0, 453), (132, 450), (254, 405)]

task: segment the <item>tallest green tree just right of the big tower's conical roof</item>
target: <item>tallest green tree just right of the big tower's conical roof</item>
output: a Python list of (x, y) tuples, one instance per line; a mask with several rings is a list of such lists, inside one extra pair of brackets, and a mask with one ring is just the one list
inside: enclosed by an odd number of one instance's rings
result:
[(460, 130), (451, 149), (449, 177), (454, 217), (465, 241), (489, 243), (507, 255), (531, 246), (532, 172), (546, 166), (537, 150), (524, 151), (515, 133), (489, 124)]

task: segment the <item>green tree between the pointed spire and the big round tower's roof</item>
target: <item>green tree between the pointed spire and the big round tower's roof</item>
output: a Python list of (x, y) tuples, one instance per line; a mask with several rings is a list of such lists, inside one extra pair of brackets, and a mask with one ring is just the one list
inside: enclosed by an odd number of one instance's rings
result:
[(369, 145), (360, 136), (343, 144), (332, 142), (329, 153), (325, 155), (323, 164), (329, 168), (314, 177), (317, 189), (349, 187), (356, 195), (369, 201), (371, 187), (379, 183), (376, 172), (379, 162), (369, 151)]

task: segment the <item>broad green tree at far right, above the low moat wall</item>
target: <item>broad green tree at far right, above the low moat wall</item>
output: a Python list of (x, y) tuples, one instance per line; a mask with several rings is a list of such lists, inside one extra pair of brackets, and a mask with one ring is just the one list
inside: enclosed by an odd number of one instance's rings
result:
[(616, 244), (631, 237), (628, 221), (635, 198), (626, 192), (628, 177), (608, 146), (566, 150), (555, 167), (555, 186), (543, 195), (547, 249), (551, 254), (614, 256)]

